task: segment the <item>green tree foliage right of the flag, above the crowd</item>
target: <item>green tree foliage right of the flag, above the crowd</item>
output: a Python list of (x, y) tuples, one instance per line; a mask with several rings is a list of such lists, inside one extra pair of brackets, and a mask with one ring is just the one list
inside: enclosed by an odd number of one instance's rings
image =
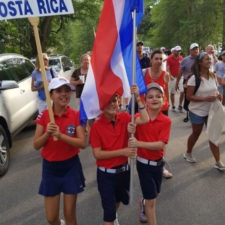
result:
[(160, 0), (152, 9), (146, 38), (153, 47), (188, 49), (192, 42), (205, 47), (222, 40), (221, 0)]

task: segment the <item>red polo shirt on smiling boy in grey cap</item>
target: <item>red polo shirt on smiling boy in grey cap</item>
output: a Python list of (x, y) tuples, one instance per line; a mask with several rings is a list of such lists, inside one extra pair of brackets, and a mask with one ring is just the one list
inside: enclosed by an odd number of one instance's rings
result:
[[(140, 114), (136, 115), (136, 117), (138, 116)], [(170, 128), (170, 118), (160, 113), (154, 120), (150, 120), (148, 123), (136, 127), (136, 138), (144, 142), (162, 141), (168, 143)], [(164, 149), (149, 150), (138, 148), (137, 155), (148, 160), (157, 160), (163, 157)]]

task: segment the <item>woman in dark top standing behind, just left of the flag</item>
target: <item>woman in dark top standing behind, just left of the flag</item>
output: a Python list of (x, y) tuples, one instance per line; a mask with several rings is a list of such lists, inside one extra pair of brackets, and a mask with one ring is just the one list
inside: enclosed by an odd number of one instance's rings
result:
[[(80, 57), (80, 67), (73, 72), (73, 74), (70, 78), (70, 83), (72, 85), (74, 85), (74, 87), (76, 89), (75, 105), (77, 107), (79, 107), (79, 105), (80, 105), (80, 97), (81, 97), (81, 94), (82, 94), (82, 91), (84, 88), (84, 83), (87, 78), (90, 60), (91, 60), (91, 57), (90, 57), (89, 53), (83, 54)], [(79, 109), (79, 108), (77, 108), (77, 109)]]

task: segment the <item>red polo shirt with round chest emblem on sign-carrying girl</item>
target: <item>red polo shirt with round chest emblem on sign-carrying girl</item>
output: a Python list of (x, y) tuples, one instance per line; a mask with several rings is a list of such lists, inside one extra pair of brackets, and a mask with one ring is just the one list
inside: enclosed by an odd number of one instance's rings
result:
[[(78, 111), (75, 111), (68, 106), (66, 112), (62, 116), (54, 115), (54, 118), (61, 133), (77, 137), (76, 127), (80, 125)], [(49, 122), (48, 110), (44, 110), (36, 119), (36, 123), (43, 126), (44, 132), (46, 131)], [(48, 161), (63, 161), (72, 158), (78, 154), (78, 152), (79, 148), (75, 148), (62, 140), (53, 141), (53, 137), (49, 136), (41, 150), (41, 156)]]

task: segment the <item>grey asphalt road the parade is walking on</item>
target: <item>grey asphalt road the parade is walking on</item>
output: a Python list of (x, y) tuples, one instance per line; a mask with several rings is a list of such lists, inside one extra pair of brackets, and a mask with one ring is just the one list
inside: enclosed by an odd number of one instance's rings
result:
[[(183, 113), (170, 112), (172, 133), (166, 160), (174, 176), (163, 180), (157, 199), (158, 225), (225, 225), (225, 173), (213, 168), (214, 160), (202, 133), (194, 155), (196, 164), (183, 159), (190, 123), (184, 123)], [(43, 197), (38, 195), (41, 178), (40, 152), (32, 147), (34, 126), (14, 138), (11, 165), (0, 178), (0, 225), (44, 225)], [(221, 159), (225, 162), (225, 134), (222, 135)], [(91, 148), (80, 153), (86, 177), (86, 189), (77, 203), (78, 225), (100, 225), (102, 209), (96, 186), (96, 166)], [(138, 199), (141, 191), (137, 174), (134, 177), (134, 201), (121, 206), (121, 225), (138, 225)], [(62, 208), (62, 207), (61, 207)], [(61, 210), (62, 215), (62, 210)]]

